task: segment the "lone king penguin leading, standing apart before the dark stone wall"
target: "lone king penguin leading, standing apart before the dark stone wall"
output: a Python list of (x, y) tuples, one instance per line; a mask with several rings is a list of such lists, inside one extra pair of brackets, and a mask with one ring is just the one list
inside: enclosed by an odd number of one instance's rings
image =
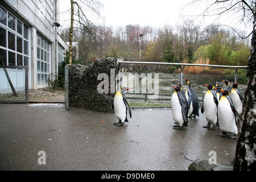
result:
[(125, 94), (123, 93), (126, 90), (129, 90), (129, 88), (123, 86), (117, 93), (115, 93), (113, 109), (115, 111), (115, 116), (119, 119), (119, 122), (114, 123), (115, 126), (123, 126), (124, 122), (128, 122), (127, 110), (129, 111), (131, 118), (131, 109), (126, 101)]

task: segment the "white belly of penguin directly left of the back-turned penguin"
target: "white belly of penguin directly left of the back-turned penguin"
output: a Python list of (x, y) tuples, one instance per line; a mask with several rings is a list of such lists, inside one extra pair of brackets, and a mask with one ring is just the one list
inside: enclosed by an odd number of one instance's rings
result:
[(172, 118), (174, 119), (174, 121), (178, 123), (180, 127), (183, 126), (184, 119), (182, 116), (180, 101), (176, 92), (172, 94), (171, 107), (172, 107)]

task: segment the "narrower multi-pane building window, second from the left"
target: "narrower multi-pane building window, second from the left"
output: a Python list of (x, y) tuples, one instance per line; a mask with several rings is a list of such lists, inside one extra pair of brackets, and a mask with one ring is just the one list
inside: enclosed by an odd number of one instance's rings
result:
[(37, 57), (38, 57), (38, 85), (47, 85), (47, 79), (49, 78), (50, 73), (50, 63), (49, 50), (51, 44), (49, 44), (46, 40), (41, 38), (38, 35), (38, 47), (37, 47)]

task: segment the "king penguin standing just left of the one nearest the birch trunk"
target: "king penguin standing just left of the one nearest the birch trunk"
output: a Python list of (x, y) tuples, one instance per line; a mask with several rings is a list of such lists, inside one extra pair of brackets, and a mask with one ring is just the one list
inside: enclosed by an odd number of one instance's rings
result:
[[(218, 98), (216, 95), (216, 89), (214, 89), (213, 85), (210, 85), (210, 84), (204, 84), (204, 85), (207, 86), (208, 90), (204, 96), (204, 104), (202, 106), (202, 109), (204, 109), (205, 111), (205, 118), (207, 119), (208, 124), (203, 127), (213, 130), (215, 129), (216, 123), (218, 120), (218, 117), (217, 117)], [(213, 127), (210, 127), (211, 123)]]

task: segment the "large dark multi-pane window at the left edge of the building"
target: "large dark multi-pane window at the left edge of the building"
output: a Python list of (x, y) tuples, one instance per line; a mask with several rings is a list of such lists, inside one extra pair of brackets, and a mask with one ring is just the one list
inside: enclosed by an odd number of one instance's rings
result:
[(0, 65), (28, 65), (28, 27), (0, 6)]

